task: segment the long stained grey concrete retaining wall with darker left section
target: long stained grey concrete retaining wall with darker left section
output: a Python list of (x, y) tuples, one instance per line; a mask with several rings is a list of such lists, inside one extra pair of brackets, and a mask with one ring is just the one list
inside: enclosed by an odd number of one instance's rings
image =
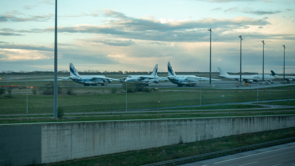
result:
[(294, 126), (295, 116), (1, 126), (0, 165), (58, 162)]

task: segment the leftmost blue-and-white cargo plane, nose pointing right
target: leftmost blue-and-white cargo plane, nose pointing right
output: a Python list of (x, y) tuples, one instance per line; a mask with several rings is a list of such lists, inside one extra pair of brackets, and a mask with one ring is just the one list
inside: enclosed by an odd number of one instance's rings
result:
[(69, 77), (62, 77), (63, 79), (59, 80), (73, 80), (74, 82), (81, 83), (84, 86), (97, 86), (97, 84), (101, 84), (104, 86), (105, 83), (112, 83), (113, 80), (119, 81), (118, 79), (114, 78), (107, 78), (104, 75), (79, 75), (73, 63), (70, 63), (70, 74)]

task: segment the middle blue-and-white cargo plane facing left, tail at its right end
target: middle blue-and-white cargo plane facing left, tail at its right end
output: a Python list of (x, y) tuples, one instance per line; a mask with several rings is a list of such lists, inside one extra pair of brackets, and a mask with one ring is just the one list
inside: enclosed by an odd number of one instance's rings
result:
[(152, 72), (151, 75), (129, 75), (128, 77), (125, 78), (119, 78), (121, 80), (121, 83), (124, 81), (138, 81), (140, 83), (143, 83), (148, 86), (150, 83), (160, 83), (160, 80), (165, 80), (167, 81), (167, 77), (159, 77), (157, 76), (158, 73), (158, 64), (155, 65), (155, 68)]

